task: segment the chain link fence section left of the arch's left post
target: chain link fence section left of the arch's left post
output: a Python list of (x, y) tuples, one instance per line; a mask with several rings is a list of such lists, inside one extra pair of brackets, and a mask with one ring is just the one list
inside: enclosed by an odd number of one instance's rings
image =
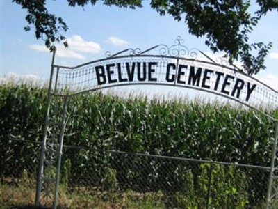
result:
[(0, 140), (0, 208), (33, 206), (40, 143)]

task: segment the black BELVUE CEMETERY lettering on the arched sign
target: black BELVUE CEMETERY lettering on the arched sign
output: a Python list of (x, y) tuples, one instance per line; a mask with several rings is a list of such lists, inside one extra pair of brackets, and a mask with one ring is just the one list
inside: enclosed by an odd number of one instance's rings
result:
[[(157, 82), (158, 67), (161, 68), (158, 62), (109, 63), (95, 66), (95, 76), (99, 86), (117, 82)], [(231, 97), (242, 98), (247, 102), (256, 88), (256, 84), (218, 70), (174, 63), (167, 63), (163, 68), (165, 68), (163, 69), (165, 82), (205, 88)]]

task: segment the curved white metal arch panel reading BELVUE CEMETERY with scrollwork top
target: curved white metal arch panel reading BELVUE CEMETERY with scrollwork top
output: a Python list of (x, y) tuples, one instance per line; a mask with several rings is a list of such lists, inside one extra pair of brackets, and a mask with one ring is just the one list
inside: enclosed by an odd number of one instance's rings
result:
[(144, 52), (126, 49), (114, 55), (106, 53), (105, 59), (73, 68), (54, 65), (57, 70), (54, 94), (72, 95), (114, 86), (149, 84), (193, 88), (253, 108), (277, 107), (277, 91), (238, 71), (227, 61), (216, 62), (198, 49), (189, 50), (179, 37), (176, 42), (172, 47), (156, 45)]

